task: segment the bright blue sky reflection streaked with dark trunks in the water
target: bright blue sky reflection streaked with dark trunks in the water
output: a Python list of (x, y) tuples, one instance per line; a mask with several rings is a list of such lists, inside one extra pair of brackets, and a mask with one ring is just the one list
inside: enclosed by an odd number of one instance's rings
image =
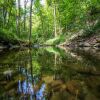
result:
[(23, 93), (24, 95), (30, 95), (30, 100), (33, 100), (36, 97), (36, 100), (45, 100), (44, 91), (45, 91), (45, 84), (43, 83), (40, 89), (35, 93), (34, 88), (31, 82), (27, 82), (26, 80), (21, 82), (18, 81), (18, 93)]

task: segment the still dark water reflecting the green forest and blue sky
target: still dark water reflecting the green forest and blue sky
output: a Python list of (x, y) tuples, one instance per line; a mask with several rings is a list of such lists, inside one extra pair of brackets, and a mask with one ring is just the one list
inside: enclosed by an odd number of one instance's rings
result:
[(0, 100), (100, 100), (100, 50), (1, 51)]

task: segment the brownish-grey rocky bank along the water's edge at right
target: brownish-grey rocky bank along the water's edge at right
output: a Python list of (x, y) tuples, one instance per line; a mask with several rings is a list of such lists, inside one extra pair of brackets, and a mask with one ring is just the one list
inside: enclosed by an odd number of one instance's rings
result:
[(100, 47), (100, 35), (90, 37), (76, 37), (69, 41), (67, 44), (71, 47)]

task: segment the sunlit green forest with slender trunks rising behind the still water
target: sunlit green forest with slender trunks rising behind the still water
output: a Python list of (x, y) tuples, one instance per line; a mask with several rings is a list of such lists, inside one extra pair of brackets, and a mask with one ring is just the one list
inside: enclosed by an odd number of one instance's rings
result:
[(99, 33), (99, 0), (0, 0), (1, 46), (99, 43)]

